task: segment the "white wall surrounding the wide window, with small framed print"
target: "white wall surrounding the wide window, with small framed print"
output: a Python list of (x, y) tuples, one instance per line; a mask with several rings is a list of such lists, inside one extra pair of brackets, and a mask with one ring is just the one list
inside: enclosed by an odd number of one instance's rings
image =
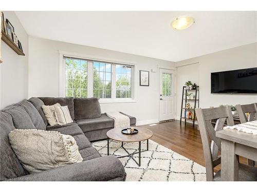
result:
[(86, 55), (89, 58), (134, 63), (137, 80), (139, 70), (150, 71), (150, 87), (140, 87), (139, 80), (137, 81), (135, 87), (137, 102), (101, 103), (101, 110), (102, 112), (122, 111), (135, 116), (137, 122), (141, 123), (158, 120), (158, 73), (151, 73), (151, 69), (157, 71), (158, 66), (171, 68), (174, 67), (174, 62), (29, 37), (29, 97), (59, 96), (59, 50)]

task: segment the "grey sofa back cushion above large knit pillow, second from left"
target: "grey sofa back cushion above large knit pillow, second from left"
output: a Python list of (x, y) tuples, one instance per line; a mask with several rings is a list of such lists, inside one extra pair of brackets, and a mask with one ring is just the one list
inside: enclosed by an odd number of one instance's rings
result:
[(29, 114), (23, 106), (11, 106), (5, 109), (4, 112), (11, 115), (16, 129), (35, 129)]

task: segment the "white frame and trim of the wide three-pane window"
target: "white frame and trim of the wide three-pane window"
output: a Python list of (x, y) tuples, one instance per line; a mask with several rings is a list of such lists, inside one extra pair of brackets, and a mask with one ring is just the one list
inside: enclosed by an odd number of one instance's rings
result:
[[(112, 92), (111, 98), (100, 98), (100, 103), (122, 103), (122, 102), (136, 102), (136, 65), (131, 63), (125, 62), (117, 62), (117, 61), (109, 61), (104, 59), (93, 59), (88, 58), (87, 56), (82, 56), (79, 54), (72, 54), (63, 51), (59, 51), (59, 60), (60, 60), (60, 67), (59, 67), (59, 96), (65, 97), (66, 96), (66, 62), (63, 58), (64, 56), (67, 57), (74, 57), (78, 59), (85, 59), (87, 61), (87, 98), (93, 97), (93, 61), (102, 61), (112, 63)], [(91, 64), (89, 63), (91, 62)], [(131, 66), (131, 98), (116, 98), (116, 68), (115, 65), (125, 65)]]

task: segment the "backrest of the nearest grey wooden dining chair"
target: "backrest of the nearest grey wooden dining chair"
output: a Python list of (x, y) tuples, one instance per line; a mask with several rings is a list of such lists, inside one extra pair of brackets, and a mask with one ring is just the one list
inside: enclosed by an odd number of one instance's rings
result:
[[(232, 112), (227, 105), (219, 108), (198, 108), (195, 109), (195, 113), (204, 148), (206, 179), (213, 181), (213, 168), (221, 163), (221, 157), (218, 156), (218, 151), (221, 150), (221, 139), (215, 136), (215, 132), (222, 130), (226, 121), (227, 125), (234, 125)], [(215, 127), (211, 120), (216, 120)]]

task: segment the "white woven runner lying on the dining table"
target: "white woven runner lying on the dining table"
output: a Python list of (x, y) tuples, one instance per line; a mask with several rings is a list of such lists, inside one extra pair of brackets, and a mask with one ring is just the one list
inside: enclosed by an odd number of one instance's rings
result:
[(231, 129), (231, 130), (236, 129), (237, 131), (242, 131), (245, 133), (257, 135), (257, 120), (242, 123), (242, 124), (237, 124), (234, 126), (225, 126), (224, 130), (226, 129)]

